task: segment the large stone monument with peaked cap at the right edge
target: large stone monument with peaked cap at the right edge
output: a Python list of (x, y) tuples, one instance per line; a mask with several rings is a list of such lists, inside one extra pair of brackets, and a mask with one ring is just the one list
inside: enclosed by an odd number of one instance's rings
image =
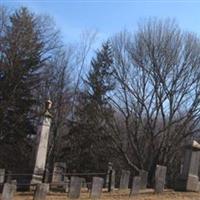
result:
[(193, 140), (185, 146), (184, 154), (183, 167), (176, 178), (174, 189), (177, 191), (199, 192), (200, 144)]

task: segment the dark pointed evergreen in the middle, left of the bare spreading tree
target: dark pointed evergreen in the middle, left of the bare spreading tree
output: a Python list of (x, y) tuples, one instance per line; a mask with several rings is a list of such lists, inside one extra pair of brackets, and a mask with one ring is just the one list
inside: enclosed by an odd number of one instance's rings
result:
[(77, 120), (70, 124), (67, 148), (63, 152), (70, 156), (66, 161), (71, 169), (102, 171), (107, 167), (110, 154), (105, 122), (113, 115), (107, 98), (115, 86), (112, 64), (111, 46), (106, 42), (91, 61), (85, 91), (79, 96)]

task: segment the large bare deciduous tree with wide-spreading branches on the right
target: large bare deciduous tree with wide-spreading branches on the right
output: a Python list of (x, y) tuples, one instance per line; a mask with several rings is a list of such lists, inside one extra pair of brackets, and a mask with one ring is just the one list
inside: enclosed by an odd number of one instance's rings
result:
[(122, 124), (112, 124), (113, 141), (131, 167), (152, 176), (199, 131), (200, 41), (174, 21), (150, 19), (113, 38), (113, 50), (118, 90), (110, 101)]

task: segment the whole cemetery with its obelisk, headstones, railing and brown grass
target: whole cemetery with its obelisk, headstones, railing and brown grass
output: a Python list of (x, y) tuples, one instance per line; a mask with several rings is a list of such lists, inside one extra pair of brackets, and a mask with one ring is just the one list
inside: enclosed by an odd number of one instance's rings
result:
[[(52, 174), (45, 173), (45, 162), (52, 115), (51, 101), (46, 102), (46, 110), (38, 128), (38, 147), (33, 174), (13, 174), (0, 169), (1, 199), (181, 199), (188, 192), (188, 198), (199, 199), (200, 144), (195, 140), (186, 145), (185, 157), (174, 188), (166, 188), (167, 167), (157, 165), (153, 188), (148, 187), (148, 171), (140, 170), (137, 176), (122, 169), (116, 172), (111, 162), (104, 173), (66, 173), (66, 163), (54, 163)], [(116, 173), (120, 174), (117, 184)], [(49, 182), (49, 176), (52, 180)], [(20, 182), (22, 176), (30, 182)], [(31, 179), (30, 179), (31, 178)], [(19, 182), (18, 182), (19, 181)], [(172, 195), (172, 196), (171, 196)], [(191, 195), (191, 196), (190, 196)], [(186, 197), (187, 199), (187, 197)]]

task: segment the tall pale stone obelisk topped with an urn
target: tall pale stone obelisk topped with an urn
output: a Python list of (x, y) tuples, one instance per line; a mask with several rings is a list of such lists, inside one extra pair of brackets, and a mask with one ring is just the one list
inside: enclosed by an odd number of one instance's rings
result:
[(31, 184), (41, 183), (43, 180), (47, 157), (49, 131), (52, 119), (52, 115), (49, 112), (51, 105), (52, 102), (50, 100), (46, 101), (45, 112), (43, 113), (38, 126), (36, 158)]

